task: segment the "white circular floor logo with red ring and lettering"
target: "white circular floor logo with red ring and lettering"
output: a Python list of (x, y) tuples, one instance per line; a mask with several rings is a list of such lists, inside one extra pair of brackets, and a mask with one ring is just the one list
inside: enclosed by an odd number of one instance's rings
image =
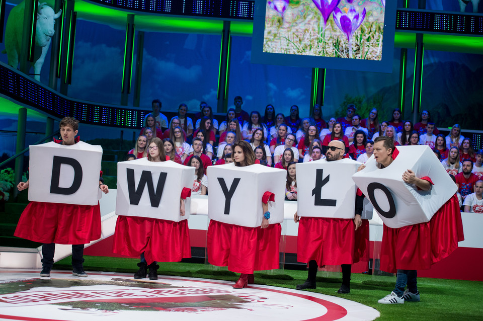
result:
[(163, 276), (157, 281), (135, 280), (122, 273), (89, 273), (87, 279), (81, 279), (53, 272), (50, 278), (40, 278), (38, 271), (2, 270), (0, 318), (330, 321), (379, 316), (371, 307), (334, 296), (262, 285), (233, 289), (232, 284)]

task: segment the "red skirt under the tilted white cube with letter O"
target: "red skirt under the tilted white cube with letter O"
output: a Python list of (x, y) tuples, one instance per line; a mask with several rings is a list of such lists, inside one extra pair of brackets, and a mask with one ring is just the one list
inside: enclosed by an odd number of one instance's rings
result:
[(456, 195), (429, 222), (390, 228), (384, 225), (381, 270), (426, 270), (448, 257), (464, 240), (461, 211)]

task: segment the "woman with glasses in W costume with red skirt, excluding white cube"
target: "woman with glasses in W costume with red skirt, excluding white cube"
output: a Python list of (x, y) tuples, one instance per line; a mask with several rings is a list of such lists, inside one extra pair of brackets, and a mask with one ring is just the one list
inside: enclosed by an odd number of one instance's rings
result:
[[(154, 163), (166, 161), (163, 141), (159, 137), (154, 137), (149, 144), (147, 159)], [(181, 216), (185, 215), (187, 195), (183, 190), (179, 200)], [(170, 201), (178, 202), (167, 200)], [(140, 255), (141, 262), (137, 264), (139, 270), (134, 274), (134, 278), (143, 279), (149, 274), (150, 280), (157, 280), (157, 262), (179, 262), (184, 258), (191, 258), (188, 220), (175, 222), (119, 215), (114, 232), (113, 252), (130, 257)]]

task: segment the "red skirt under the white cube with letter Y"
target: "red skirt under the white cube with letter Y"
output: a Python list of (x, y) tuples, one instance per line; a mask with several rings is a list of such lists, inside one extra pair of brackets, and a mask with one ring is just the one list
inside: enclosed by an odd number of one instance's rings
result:
[(210, 220), (208, 261), (236, 273), (274, 270), (280, 267), (282, 226), (246, 227)]

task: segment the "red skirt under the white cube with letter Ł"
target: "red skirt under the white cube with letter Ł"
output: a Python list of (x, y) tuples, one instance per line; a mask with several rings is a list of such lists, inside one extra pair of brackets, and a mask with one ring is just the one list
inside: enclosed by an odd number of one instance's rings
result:
[(300, 217), (297, 261), (315, 260), (318, 266), (354, 262), (355, 225), (352, 219)]

